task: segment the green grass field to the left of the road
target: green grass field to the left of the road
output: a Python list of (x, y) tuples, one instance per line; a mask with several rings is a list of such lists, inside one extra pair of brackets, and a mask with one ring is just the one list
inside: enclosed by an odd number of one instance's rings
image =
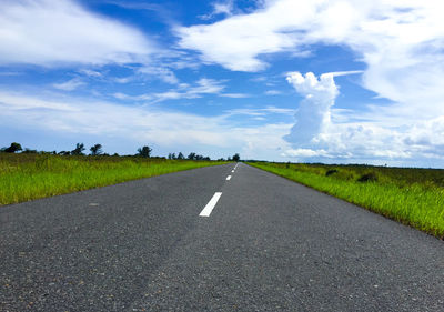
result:
[(0, 204), (215, 164), (221, 162), (0, 153)]

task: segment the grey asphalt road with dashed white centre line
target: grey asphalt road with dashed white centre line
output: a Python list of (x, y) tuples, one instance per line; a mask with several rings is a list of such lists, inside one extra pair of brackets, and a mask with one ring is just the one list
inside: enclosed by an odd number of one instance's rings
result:
[(0, 207), (0, 311), (444, 311), (442, 241), (233, 168)]

